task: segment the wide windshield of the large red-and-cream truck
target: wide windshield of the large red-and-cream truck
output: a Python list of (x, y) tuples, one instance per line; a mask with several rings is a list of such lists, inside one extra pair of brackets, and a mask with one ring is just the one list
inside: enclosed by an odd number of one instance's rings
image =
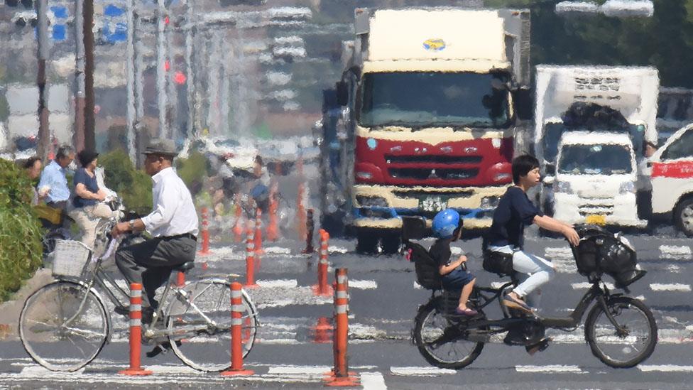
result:
[(477, 126), (510, 124), (504, 73), (366, 73), (361, 126)]

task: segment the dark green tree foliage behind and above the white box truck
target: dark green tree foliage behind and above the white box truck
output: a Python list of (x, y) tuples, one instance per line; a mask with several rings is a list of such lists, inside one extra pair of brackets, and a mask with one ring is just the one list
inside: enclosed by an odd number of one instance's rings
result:
[[(662, 85), (693, 88), (693, 0), (653, 0), (651, 18), (557, 15), (558, 0), (486, 0), (532, 12), (532, 63), (652, 65)], [(603, 3), (604, 1), (599, 1)]]

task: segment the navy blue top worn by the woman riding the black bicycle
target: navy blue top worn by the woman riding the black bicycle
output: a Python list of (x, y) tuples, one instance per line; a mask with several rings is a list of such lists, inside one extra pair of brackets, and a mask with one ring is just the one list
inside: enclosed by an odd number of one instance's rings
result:
[(544, 214), (530, 201), (522, 188), (508, 188), (493, 212), (493, 224), (486, 236), (489, 245), (512, 245), (522, 249), (525, 242), (525, 225), (530, 225), (537, 215)]

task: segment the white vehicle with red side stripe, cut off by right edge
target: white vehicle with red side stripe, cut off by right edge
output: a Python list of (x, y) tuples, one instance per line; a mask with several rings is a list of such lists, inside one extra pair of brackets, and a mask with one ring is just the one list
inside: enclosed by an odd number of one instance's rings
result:
[(648, 162), (652, 212), (693, 237), (693, 124), (676, 131)]

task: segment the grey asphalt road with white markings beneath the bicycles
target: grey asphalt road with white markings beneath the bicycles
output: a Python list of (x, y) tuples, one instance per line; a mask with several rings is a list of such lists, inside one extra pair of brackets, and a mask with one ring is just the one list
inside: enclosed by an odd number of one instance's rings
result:
[[(555, 261), (558, 273), (545, 286), (543, 314), (567, 315), (585, 291), (563, 239), (540, 238), (528, 233), (526, 247)], [(653, 236), (628, 236), (638, 251), (645, 278), (631, 288), (631, 296), (644, 299), (653, 309), (659, 327), (659, 342), (647, 361), (632, 369), (612, 369), (592, 356), (582, 328), (574, 332), (548, 330), (555, 341), (544, 352), (530, 356), (523, 347), (508, 347), (499, 341), (484, 347), (471, 366), (454, 371), (431, 367), (410, 342), (418, 305), (430, 291), (417, 288), (413, 265), (401, 256), (359, 256), (355, 243), (332, 239), (330, 281), (334, 268), (349, 269), (349, 367), (366, 389), (690, 389), (693, 372), (693, 312), (690, 266), (691, 240), (677, 237), (668, 228)], [(430, 245), (430, 242), (425, 242)], [(481, 270), (481, 240), (454, 244), (470, 256), (469, 269), (481, 285), (497, 282)], [(323, 374), (332, 366), (329, 335), (315, 332), (321, 317), (332, 323), (332, 298), (315, 297), (310, 286), (317, 281), (317, 255), (300, 254), (294, 240), (266, 243), (266, 254), (256, 273), (260, 288), (250, 292), (260, 312), (262, 327), (258, 342), (246, 359), (251, 377), (219, 377), (188, 369), (173, 353), (143, 365), (151, 377), (123, 377), (128, 365), (126, 323), (114, 315), (115, 335), (99, 357), (81, 372), (45, 371), (31, 362), (15, 335), (0, 342), (0, 388), (320, 388)], [(241, 244), (214, 242), (207, 261), (208, 273), (245, 273)], [(193, 271), (202, 273), (200, 269)], [(192, 275), (190, 276), (192, 277)], [(498, 315), (498, 313), (495, 313)], [(494, 313), (489, 313), (489, 317)]]

